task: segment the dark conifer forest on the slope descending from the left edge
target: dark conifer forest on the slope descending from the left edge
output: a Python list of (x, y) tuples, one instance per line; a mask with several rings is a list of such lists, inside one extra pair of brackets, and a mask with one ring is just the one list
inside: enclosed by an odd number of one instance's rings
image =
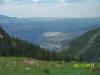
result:
[(29, 43), (15, 37), (10, 37), (0, 27), (0, 56), (22, 56), (43, 60), (53, 60), (55, 53), (45, 50), (37, 44)]

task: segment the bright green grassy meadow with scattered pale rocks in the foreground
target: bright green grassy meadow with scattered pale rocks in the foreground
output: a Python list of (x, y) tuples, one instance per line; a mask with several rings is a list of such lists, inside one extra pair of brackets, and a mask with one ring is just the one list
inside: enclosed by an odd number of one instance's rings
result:
[(88, 63), (0, 57), (0, 75), (100, 75), (100, 63), (89, 63), (94, 68), (75, 67), (75, 64)]

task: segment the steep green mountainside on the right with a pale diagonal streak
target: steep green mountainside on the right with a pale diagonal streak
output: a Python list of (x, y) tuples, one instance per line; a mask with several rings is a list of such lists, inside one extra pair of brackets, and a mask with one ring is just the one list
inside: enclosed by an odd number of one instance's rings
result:
[(81, 56), (86, 61), (100, 61), (100, 28), (86, 32), (57, 52), (62, 56)]

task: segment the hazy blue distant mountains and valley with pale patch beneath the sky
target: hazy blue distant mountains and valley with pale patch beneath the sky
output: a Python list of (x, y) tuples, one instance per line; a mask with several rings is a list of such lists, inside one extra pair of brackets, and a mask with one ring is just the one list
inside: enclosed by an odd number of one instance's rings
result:
[[(100, 18), (16, 18), (0, 15), (0, 26), (11, 36), (36, 42), (43, 48), (54, 50), (80, 36), (79, 32), (83, 34), (85, 31), (100, 27)], [(45, 36), (47, 33), (53, 36)], [(59, 34), (54, 35), (56, 33)]]

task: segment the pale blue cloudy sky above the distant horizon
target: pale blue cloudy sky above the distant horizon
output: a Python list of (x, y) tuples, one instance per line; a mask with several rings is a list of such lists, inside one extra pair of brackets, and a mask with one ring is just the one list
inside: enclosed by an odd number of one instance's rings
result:
[(100, 0), (0, 0), (0, 15), (12, 17), (100, 17)]

